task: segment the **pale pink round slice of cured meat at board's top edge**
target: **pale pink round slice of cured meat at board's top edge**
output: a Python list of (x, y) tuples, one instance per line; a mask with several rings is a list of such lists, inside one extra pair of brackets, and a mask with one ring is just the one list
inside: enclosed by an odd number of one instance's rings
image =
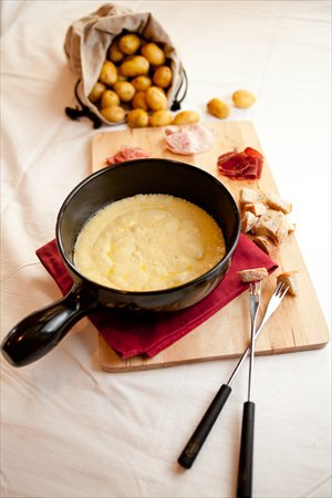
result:
[(165, 145), (174, 154), (191, 155), (209, 151), (216, 136), (210, 128), (200, 124), (168, 126)]

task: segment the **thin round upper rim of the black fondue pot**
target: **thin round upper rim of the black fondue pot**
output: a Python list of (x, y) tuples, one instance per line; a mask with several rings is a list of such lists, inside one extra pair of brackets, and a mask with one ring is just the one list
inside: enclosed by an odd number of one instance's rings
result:
[(191, 164), (188, 163), (183, 163), (180, 160), (176, 160), (176, 159), (166, 159), (163, 157), (148, 157), (148, 158), (139, 158), (139, 159), (132, 159), (132, 160), (126, 160), (123, 163), (120, 163), (117, 165), (111, 166), (112, 170), (115, 168), (123, 168), (126, 167), (127, 165), (132, 165), (134, 163), (142, 163), (142, 162), (162, 162), (162, 163), (172, 163), (185, 168), (190, 168), (190, 169), (195, 169), (196, 173), (199, 173), (203, 176), (207, 176), (210, 180), (215, 181), (219, 187), (221, 187), (227, 195), (230, 197), (230, 199), (232, 200), (234, 204), (234, 208), (235, 208), (235, 212), (236, 212), (236, 222), (237, 222), (237, 232), (236, 232), (236, 237), (235, 237), (235, 241), (232, 243), (232, 246), (230, 247), (230, 249), (228, 250), (228, 252), (226, 253), (226, 256), (218, 261), (212, 268), (210, 268), (208, 271), (206, 271), (205, 273), (200, 274), (199, 277), (196, 277), (193, 280), (189, 280), (185, 283), (181, 283), (180, 286), (176, 286), (176, 287), (170, 287), (170, 288), (166, 288), (166, 289), (157, 289), (157, 290), (151, 290), (151, 291), (131, 291), (131, 290), (123, 290), (123, 289), (116, 289), (113, 287), (107, 287), (107, 286), (103, 286), (102, 283), (97, 283), (93, 280), (90, 280), (87, 277), (83, 276), (77, 269), (76, 267), (72, 263), (72, 261), (70, 261), (70, 259), (66, 256), (66, 252), (63, 248), (63, 243), (62, 243), (62, 238), (61, 238), (61, 222), (65, 212), (66, 207), (69, 206), (69, 204), (71, 203), (72, 198), (77, 194), (79, 190), (81, 190), (86, 184), (91, 183), (94, 180), (94, 178), (98, 177), (100, 175), (105, 174), (105, 172), (107, 172), (110, 169), (110, 166), (106, 166), (102, 169), (98, 169), (97, 172), (92, 173), (91, 175), (89, 175), (86, 178), (84, 178), (82, 181), (80, 181), (72, 190), (71, 193), (66, 196), (66, 198), (64, 199), (58, 217), (56, 217), (56, 225), (55, 225), (55, 240), (56, 240), (56, 245), (58, 248), (60, 250), (60, 255), (61, 258), (64, 260), (65, 264), (70, 268), (70, 270), (83, 282), (86, 281), (91, 286), (96, 286), (100, 289), (103, 289), (105, 291), (108, 292), (113, 292), (115, 294), (118, 295), (142, 295), (142, 297), (148, 297), (148, 295), (160, 295), (160, 294), (165, 294), (165, 293), (169, 293), (172, 294), (173, 292), (178, 292), (181, 289), (188, 288), (189, 286), (196, 286), (199, 284), (201, 281), (208, 279), (209, 277), (211, 277), (216, 271), (218, 271), (220, 266), (224, 266), (225, 263), (227, 263), (227, 261), (232, 257), (234, 251), (237, 248), (238, 241), (239, 241), (239, 237), (240, 237), (240, 230), (241, 230), (241, 224), (240, 224), (240, 214), (239, 214), (239, 209), (238, 206), (236, 204), (236, 200), (232, 196), (232, 194), (228, 190), (228, 188), (221, 183), (219, 181), (215, 176), (212, 176), (211, 174), (205, 172), (204, 169), (200, 169), (197, 166), (194, 166)]

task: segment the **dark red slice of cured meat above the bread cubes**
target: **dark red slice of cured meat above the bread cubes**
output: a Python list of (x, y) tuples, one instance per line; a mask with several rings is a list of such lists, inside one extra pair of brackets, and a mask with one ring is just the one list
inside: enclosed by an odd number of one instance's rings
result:
[(261, 176), (263, 156), (255, 148), (230, 152), (218, 157), (219, 172), (232, 179), (257, 179)]

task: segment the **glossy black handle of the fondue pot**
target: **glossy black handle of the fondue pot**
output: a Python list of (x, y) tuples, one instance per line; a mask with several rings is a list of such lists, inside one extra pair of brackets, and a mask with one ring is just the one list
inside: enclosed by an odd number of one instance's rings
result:
[(13, 366), (23, 366), (51, 351), (81, 318), (100, 307), (96, 295), (74, 284), (61, 300), (35, 311), (3, 339), (1, 352)]

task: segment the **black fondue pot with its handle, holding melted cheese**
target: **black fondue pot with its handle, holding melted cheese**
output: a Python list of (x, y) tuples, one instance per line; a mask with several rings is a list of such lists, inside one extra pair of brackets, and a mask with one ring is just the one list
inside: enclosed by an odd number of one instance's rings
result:
[[(215, 218), (224, 232), (227, 250), (224, 259), (195, 280), (157, 291), (117, 290), (82, 276), (73, 263), (79, 231), (92, 214), (105, 205), (136, 194), (169, 194), (200, 206)], [(63, 299), (30, 314), (8, 333), (1, 344), (4, 357), (14, 366), (40, 359), (65, 336), (75, 322), (101, 307), (144, 311), (175, 311), (191, 307), (222, 280), (230, 267), (239, 234), (240, 217), (235, 199), (220, 181), (198, 167), (151, 158), (122, 163), (94, 173), (68, 196), (56, 220), (59, 251), (74, 284)]]

